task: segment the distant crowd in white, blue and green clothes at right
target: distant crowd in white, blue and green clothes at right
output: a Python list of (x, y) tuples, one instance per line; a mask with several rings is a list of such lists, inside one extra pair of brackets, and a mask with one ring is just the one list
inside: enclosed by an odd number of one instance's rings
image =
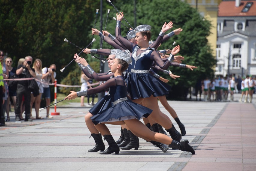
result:
[[(198, 80), (195, 86), (196, 101), (203, 94), (204, 101), (235, 101), (234, 93), (241, 93), (239, 102), (251, 103), (256, 88), (256, 76), (246, 75), (240, 78), (233, 74), (231, 77), (218, 75), (214, 79)], [(230, 94), (230, 96), (229, 96)], [(238, 99), (237, 99), (238, 100)]]

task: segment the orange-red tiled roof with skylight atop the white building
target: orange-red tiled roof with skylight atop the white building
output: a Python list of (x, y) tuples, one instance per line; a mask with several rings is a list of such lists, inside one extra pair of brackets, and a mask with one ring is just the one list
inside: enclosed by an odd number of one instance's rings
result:
[(235, 0), (224, 0), (219, 4), (218, 16), (256, 16), (256, 0), (241, 1), (239, 7)]

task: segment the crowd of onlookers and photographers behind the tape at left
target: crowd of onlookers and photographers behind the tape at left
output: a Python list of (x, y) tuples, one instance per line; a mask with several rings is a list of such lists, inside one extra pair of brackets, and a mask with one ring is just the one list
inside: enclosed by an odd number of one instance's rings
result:
[[(49, 83), (54, 82), (56, 77), (56, 65), (42, 68), (42, 61), (35, 59), (34, 63), (31, 56), (20, 58), (17, 68), (13, 67), (13, 61), (10, 57), (0, 50), (0, 112), (1, 126), (10, 121), (10, 104), (14, 105), (15, 121), (32, 121), (33, 119), (43, 119), (39, 115), (39, 108), (42, 96), (46, 101), (46, 106), (50, 105), (50, 87)], [(35, 78), (35, 79), (34, 79)], [(11, 80), (5, 80), (11, 79)], [(19, 80), (14, 80), (19, 79)], [(35, 103), (36, 117), (32, 116), (32, 106)], [(49, 115), (50, 108), (47, 108), (46, 118), (52, 118)], [(22, 114), (25, 111), (25, 119)], [(7, 118), (5, 119), (5, 112)]]

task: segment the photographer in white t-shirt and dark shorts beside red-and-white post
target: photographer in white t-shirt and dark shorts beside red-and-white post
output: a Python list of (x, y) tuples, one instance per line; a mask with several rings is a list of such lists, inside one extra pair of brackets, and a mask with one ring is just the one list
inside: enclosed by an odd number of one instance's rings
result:
[[(55, 77), (56, 77), (56, 65), (55, 64), (51, 64), (49, 68), (44, 67), (42, 69), (42, 81), (45, 82), (45, 84), (43, 83), (43, 88), (44, 88), (44, 98), (46, 101), (46, 106), (50, 105), (50, 99), (51, 99), (51, 93), (50, 93), (50, 87), (49, 87), (49, 82), (54, 82)], [(49, 115), (49, 111), (50, 111), (50, 107), (46, 108), (46, 118), (52, 118), (52, 116)]]

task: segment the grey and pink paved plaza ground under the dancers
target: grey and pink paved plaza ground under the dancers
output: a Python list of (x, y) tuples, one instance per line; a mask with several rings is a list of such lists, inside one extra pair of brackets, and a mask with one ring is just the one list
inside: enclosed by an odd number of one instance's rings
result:
[[(239, 99), (239, 94), (235, 99)], [(169, 101), (186, 127), (187, 134), (182, 138), (196, 149), (195, 155), (172, 149), (163, 153), (143, 139), (139, 139), (138, 150), (120, 150), (119, 155), (88, 153), (95, 145), (84, 122), (90, 108), (80, 107), (80, 103), (57, 107), (59, 116), (33, 122), (15, 123), (11, 113), (11, 122), (0, 127), (0, 168), (5, 171), (256, 170), (255, 102), (255, 95), (251, 104)], [(42, 110), (40, 115), (45, 117), (45, 112)], [(107, 126), (117, 140), (120, 126)]]

